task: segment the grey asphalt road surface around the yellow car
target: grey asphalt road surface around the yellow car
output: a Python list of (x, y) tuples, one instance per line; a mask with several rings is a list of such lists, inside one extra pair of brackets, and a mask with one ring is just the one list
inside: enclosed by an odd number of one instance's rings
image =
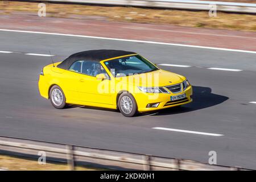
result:
[[(256, 169), (255, 53), (242, 53), (0, 31), (0, 135), (80, 146), (138, 152)], [(194, 90), (191, 104), (125, 118), (118, 111), (91, 107), (54, 109), (39, 96), (38, 76), (54, 61), (86, 49), (125, 49), (186, 76)], [(1, 52), (2, 51), (2, 52)], [(10, 52), (3, 52), (10, 51)], [(214, 70), (228, 68), (236, 70)], [(237, 70), (238, 69), (238, 70)], [(156, 130), (164, 127), (218, 136)]]

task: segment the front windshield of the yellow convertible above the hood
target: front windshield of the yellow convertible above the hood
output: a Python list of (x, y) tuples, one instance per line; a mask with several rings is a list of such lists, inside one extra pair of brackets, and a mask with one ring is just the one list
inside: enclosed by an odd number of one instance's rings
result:
[(158, 70), (140, 55), (121, 57), (104, 62), (114, 77), (129, 76)]

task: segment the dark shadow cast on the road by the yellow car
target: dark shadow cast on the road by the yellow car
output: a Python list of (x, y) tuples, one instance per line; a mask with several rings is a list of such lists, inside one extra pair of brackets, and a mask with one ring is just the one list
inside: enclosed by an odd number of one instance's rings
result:
[[(150, 115), (171, 115), (187, 113), (207, 107), (212, 107), (229, 99), (229, 97), (212, 93), (212, 89), (204, 86), (193, 86), (193, 102), (177, 107), (170, 107), (159, 111), (145, 113)], [(144, 115), (144, 114), (143, 114)]]

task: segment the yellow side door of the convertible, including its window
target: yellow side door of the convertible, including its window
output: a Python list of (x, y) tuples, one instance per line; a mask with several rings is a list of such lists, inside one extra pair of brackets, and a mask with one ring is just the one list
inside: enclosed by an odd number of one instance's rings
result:
[(105, 69), (98, 61), (84, 60), (82, 62), (81, 74), (77, 84), (77, 91), (81, 101), (99, 104), (113, 104), (113, 94), (109, 92), (109, 77), (105, 80), (97, 80), (96, 75), (105, 73)]

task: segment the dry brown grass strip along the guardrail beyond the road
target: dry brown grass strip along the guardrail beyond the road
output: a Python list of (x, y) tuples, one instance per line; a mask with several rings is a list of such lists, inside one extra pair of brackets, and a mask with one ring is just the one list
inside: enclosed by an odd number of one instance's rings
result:
[[(144, 9), (138, 7), (104, 7), (67, 4), (47, 4), (47, 16), (77, 18), (81, 16), (104, 16), (110, 21), (175, 24), (187, 27), (208, 27), (229, 30), (256, 31), (256, 15), (217, 12), (209, 17), (207, 11), (181, 11)], [(0, 2), (2, 13), (13, 11), (38, 11), (38, 3)], [(75, 16), (74, 16), (75, 15)]]

